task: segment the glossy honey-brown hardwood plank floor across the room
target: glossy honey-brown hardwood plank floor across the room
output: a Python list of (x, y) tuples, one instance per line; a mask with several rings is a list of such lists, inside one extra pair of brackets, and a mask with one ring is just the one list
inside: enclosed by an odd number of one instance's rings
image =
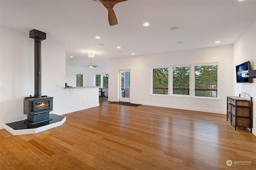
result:
[[(32, 135), (0, 130), (1, 170), (255, 170), (256, 136), (226, 115), (153, 106), (99, 107)], [(232, 165), (227, 166), (227, 160)], [(236, 162), (234, 162), (236, 161)], [(238, 162), (239, 161), (239, 162)], [(246, 162), (242, 161), (248, 161)], [(244, 164), (245, 163), (245, 164)]]

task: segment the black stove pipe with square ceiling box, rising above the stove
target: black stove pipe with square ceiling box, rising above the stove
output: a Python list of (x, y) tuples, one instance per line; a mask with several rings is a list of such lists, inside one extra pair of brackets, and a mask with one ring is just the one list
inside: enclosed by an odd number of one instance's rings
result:
[(41, 41), (46, 39), (46, 33), (32, 29), (29, 31), (29, 37), (34, 39), (34, 97), (41, 98), (41, 68), (42, 68), (42, 51)]

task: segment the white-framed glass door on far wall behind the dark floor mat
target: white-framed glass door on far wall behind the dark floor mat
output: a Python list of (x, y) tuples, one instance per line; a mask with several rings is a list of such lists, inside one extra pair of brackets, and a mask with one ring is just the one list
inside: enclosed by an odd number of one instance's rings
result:
[(119, 71), (119, 102), (130, 102), (130, 70)]

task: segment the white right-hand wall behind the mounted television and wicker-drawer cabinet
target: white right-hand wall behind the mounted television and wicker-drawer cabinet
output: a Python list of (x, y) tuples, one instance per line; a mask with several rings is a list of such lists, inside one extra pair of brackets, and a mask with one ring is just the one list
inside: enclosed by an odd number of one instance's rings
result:
[[(234, 63), (233, 63), (233, 96), (238, 96), (242, 92), (252, 96), (253, 104), (256, 103), (256, 78), (252, 83), (236, 83), (235, 66), (246, 61), (250, 61), (252, 70), (256, 70), (256, 21), (246, 30), (246, 32), (234, 43)], [(256, 107), (253, 110), (253, 131), (256, 135)]]

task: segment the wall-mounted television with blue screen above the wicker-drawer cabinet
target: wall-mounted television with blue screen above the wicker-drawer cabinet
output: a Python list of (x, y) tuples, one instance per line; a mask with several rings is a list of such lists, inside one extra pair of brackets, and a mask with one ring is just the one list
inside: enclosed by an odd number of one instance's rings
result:
[(252, 83), (252, 78), (248, 77), (248, 71), (251, 70), (250, 61), (236, 66), (236, 82), (237, 83)]

